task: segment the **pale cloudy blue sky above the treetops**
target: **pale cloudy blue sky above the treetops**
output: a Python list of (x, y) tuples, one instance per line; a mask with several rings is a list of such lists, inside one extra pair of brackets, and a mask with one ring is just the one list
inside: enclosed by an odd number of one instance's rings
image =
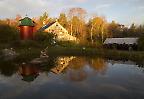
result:
[(0, 19), (17, 14), (37, 17), (44, 12), (58, 17), (73, 7), (85, 9), (89, 17), (105, 16), (108, 22), (144, 24), (144, 0), (0, 0)]

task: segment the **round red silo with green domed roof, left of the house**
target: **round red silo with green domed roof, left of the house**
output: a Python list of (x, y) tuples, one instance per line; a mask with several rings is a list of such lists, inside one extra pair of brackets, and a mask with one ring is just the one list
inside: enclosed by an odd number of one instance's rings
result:
[(19, 21), (21, 39), (33, 39), (35, 22), (29, 17), (25, 17)]

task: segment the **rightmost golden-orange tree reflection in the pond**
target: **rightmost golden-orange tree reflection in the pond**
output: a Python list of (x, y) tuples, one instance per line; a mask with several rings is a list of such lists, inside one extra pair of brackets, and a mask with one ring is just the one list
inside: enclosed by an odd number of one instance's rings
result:
[(93, 58), (89, 61), (89, 64), (92, 69), (102, 74), (104, 74), (107, 69), (106, 62), (102, 58)]

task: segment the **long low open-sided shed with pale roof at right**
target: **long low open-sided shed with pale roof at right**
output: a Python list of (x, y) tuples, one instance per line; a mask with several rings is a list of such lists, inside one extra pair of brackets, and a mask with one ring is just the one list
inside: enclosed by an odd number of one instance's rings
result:
[(137, 40), (138, 38), (107, 38), (104, 46), (120, 50), (137, 50)]

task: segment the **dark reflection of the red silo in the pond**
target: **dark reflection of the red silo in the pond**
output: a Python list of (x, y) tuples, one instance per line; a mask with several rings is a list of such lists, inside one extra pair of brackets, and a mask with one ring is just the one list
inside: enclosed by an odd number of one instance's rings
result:
[(36, 66), (24, 64), (19, 67), (19, 74), (23, 77), (22, 80), (31, 82), (39, 75), (39, 69)]

